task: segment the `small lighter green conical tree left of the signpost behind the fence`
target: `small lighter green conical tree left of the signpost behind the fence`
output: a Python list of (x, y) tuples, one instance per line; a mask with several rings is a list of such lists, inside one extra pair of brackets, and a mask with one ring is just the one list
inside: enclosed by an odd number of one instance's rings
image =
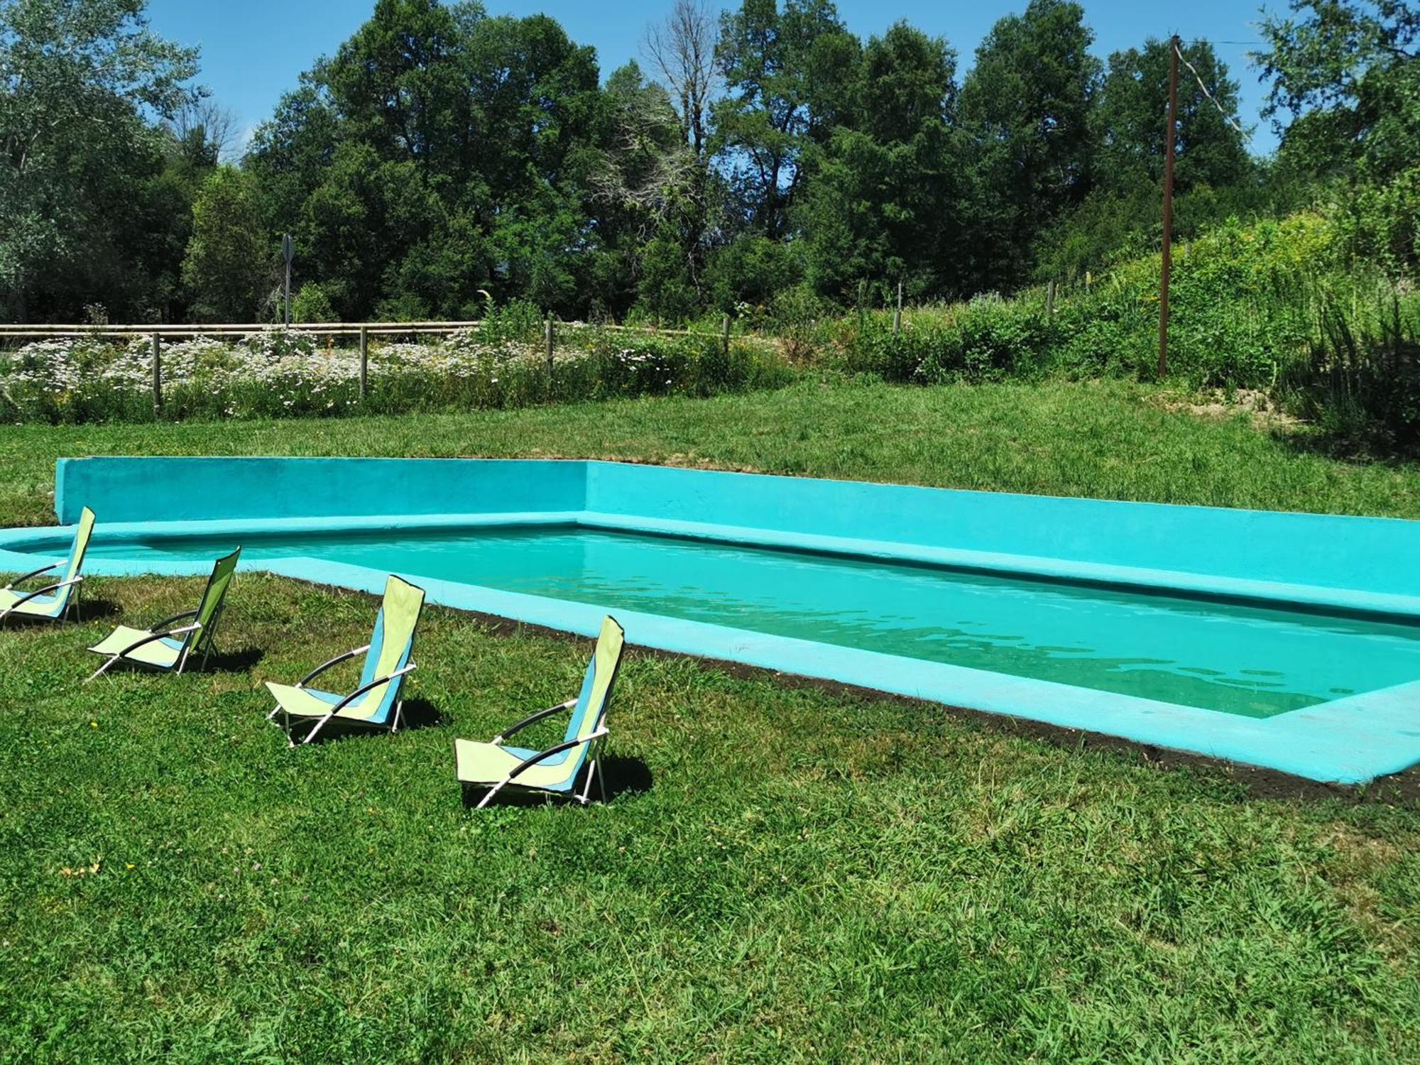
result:
[(192, 240), (182, 264), (193, 317), (253, 321), (271, 291), (273, 266), (251, 176), (234, 166), (217, 168), (192, 204)]

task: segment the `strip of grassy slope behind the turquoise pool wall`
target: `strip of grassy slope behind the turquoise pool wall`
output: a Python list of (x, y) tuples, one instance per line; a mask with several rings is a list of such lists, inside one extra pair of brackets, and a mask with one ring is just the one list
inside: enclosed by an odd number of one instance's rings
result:
[[(1123, 383), (807, 383), (709, 400), (217, 425), (0, 427), (0, 514), (53, 521), (77, 454), (639, 459), (998, 491), (1420, 517), (1420, 471), (1305, 453), (1245, 416), (1169, 412)], [(99, 515), (102, 518), (102, 515)]]

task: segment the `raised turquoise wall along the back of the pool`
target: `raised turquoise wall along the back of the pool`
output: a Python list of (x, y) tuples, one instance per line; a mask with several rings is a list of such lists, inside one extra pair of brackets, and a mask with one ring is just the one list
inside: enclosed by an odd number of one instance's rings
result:
[(1420, 616), (1420, 523), (957, 491), (629, 463), (496, 459), (61, 459), (55, 513), (105, 524), (523, 515)]

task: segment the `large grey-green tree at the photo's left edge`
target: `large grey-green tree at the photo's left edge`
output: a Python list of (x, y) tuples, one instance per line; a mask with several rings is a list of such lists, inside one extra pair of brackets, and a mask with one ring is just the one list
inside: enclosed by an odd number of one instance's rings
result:
[(195, 48), (148, 27), (143, 0), (0, 3), (0, 312), (136, 312), (124, 224), (163, 166), (143, 111), (193, 91)]

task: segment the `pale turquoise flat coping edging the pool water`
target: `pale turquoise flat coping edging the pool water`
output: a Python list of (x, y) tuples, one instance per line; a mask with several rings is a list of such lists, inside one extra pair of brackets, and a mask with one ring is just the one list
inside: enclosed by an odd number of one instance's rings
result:
[[(983, 552), (961, 552), (946, 548), (912, 548), (892, 541), (853, 541), (838, 537), (799, 537), (768, 530), (719, 527), (704, 523), (667, 521), (642, 518), (625, 514), (604, 514), (599, 511), (507, 511), (479, 514), (422, 514), (422, 515), (361, 515), (320, 518), (241, 518), (175, 523), (115, 523), (102, 527), (104, 540), (136, 540), (163, 535), (178, 537), (230, 537), (234, 541), (243, 535), (300, 532), (300, 531), (381, 531), (381, 530), (439, 530), (453, 527), (508, 527), (508, 525), (578, 525), (585, 528), (611, 528), (623, 531), (660, 532), (669, 535), (694, 535), (697, 538), (760, 547), (792, 547), (795, 550), (818, 550), (832, 554), (849, 554), (897, 561), (917, 561), (933, 565), (963, 567), (961, 555)], [(37, 552), (16, 548), (55, 547), (58, 554), (67, 550), (72, 527), (33, 527), (0, 530), (0, 571), (31, 569), (40, 558)], [(831, 541), (831, 542), (829, 542)], [(994, 557), (991, 565), (966, 565), (985, 571), (1000, 571), (1011, 557)], [(1035, 559), (1051, 562), (1054, 559)], [(1061, 564), (1052, 572), (1037, 575), (1054, 579), (1092, 579), (1072, 571), (1088, 564)], [(317, 584), (338, 585), (378, 594), (386, 578), (386, 571), (368, 567), (329, 562), (318, 558), (293, 557), (284, 559), (261, 559), (257, 568), (283, 577), (291, 577)], [(1048, 568), (1048, 567), (1041, 567)], [(1088, 567), (1091, 569), (1119, 569), (1118, 567)], [(204, 574), (204, 564), (190, 561), (162, 559), (131, 562), (126, 559), (91, 558), (88, 572), (98, 575), (132, 577), (139, 574), (196, 575)], [(1021, 569), (1011, 572), (1020, 574)], [(1030, 571), (1027, 571), (1030, 572)], [(1140, 571), (1135, 578), (1143, 581), (1143, 588), (1156, 592), (1174, 592), (1174, 585), (1164, 585), (1147, 578), (1154, 571)], [(1132, 743), (1177, 750), (1208, 758), (1218, 758), (1265, 770), (1275, 770), (1312, 781), (1356, 785), (1377, 777), (1400, 772), (1420, 763), (1420, 680), (1390, 689), (1366, 692), (1345, 699), (1321, 703), (1299, 710), (1275, 714), (1267, 719), (1251, 719), (1217, 710), (1163, 703), (1135, 696), (1123, 696), (1098, 689), (1074, 687), (1047, 680), (1015, 677), (1004, 673), (926, 662), (866, 652), (838, 645), (771, 636), (744, 629), (710, 625), (704, 622), (680, 621), (662, 615), (611, 609), (599, 604), (585, 604), (545, 596), (503, 592), (481, 585), (464, 585), (452, 581), (427, 579), (415, 574), (402, 574), (416, 581), (429, 592), (429, 601), (444, 606), (480, 613), (496, 615), (513, 621), (541, 625), (552, 629), (592, 636), (596, 633), (604, 613), (612, 612), (628, 630), (629, 642), (656, 650), (690, 655), (696, 657), (723, 659), (747, 666), (792, 673), (805, 677), (831, 680), (855, 687), (873, 689), (892, 694), (943, 703), (954, 707), (980, 710), (988, 714), (1027, 719), (1042, 724), (1113, 736)], [(1120, 581), (1093, 578), (1102, 584), (1119, 585)], [(1132, 582), (1126, 582), (1129, 586)], [(1245, 595), (1237, 591), (1228, 598), (1261, 599), (1278, 605), (1292, 604), (1325, 606), (1331, 609), (1377, 612), (1373, 608), (1336, 602), (1311, 602), (1282, 599), (1262, 592), (1271, 591), (1268, 582), (1238, 582)], [(1267, 585), (1257, 589), (1251, 585)], [(1284, 586), (1296, 588), (1296, 586)], [(1181, 589), (1187, 591), (1187, 589)], [(1331, 589), (1346, 591), (1346, 589)], [(1218, 592), (1198, 588), (1197, 594), (1216, 596)], [(1224, 594), (1227, 595), (1227, 594)], [(1373, 594), (1359, 594), (1375, 599)], [(1390, 596), (1409, 599), (1409, 596)], [(1380, 613), (1399, 613), (1382, 609)], [(1411, 616), (1413, 619), (1413, 616)]]

